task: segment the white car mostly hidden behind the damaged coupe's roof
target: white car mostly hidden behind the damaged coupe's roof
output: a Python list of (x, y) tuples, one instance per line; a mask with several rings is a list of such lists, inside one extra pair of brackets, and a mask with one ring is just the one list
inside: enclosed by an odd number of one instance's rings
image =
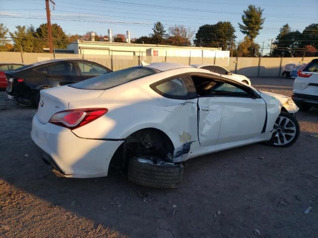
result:
[[(230, 70), (226, 69), (225, 67), (222, 67), (220, 65), (214, 65), (214, 64), (192, 64), (191, 66), (196, 67), (196, 68), (203, 68), (210, 70), (213, 73), (216, 73), (217, 75), (220, 75), (222, 77), (230, 78), (233, 80), (237, 80), (239, 82), (246, 83), (248, 85), (251, 85), (250, 79), (247, 78), (244, 75), (241, 74), (235, 74), (230, 72)], [(216, 69), (211, 68), (211, 67), (216, 67)]]

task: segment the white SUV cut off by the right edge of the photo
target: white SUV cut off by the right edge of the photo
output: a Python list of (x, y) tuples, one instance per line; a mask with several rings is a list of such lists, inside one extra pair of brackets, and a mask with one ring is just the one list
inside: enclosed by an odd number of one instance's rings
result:
[(313, 106), (318, 107), (318, 59), (298, 71), (292, 98), (300, 111), (306, 112)]

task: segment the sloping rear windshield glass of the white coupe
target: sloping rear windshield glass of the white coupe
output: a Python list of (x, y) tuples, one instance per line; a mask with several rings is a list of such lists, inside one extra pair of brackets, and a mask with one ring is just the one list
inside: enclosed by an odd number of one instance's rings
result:
[(86, 79), (84, 81), (71, 84), (70, 87), (78, 89), (94, 89), (104, 90), (118, 86), (120, 84), (128, 83), (138, 78), (143, 78), (159, 71), (152, 68), (145, 67), (131, 67), (99, 76)]

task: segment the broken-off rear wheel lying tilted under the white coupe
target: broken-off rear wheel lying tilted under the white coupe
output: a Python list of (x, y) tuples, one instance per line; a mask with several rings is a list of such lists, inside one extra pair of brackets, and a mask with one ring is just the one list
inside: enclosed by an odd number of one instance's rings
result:
[(128, 179), (142, 186), (175, 188), (182, 176), (183, 165), (165, 162), (158, 156), (135, 156), (129, 161)]

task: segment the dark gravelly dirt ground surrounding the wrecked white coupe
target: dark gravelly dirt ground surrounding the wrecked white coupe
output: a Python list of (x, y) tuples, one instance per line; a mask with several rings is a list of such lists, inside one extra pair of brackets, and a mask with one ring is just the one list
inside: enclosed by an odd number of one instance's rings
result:
[[(252, 83), (292, 94), (292, 79)], [(34, 114), (0, 92), (0, 237), (318, 237), (318, 109), (297, 113), (301, 135), (292, 147), (254, 144), (194, 158), (172, 190), (118, 173), (55, 177), (32, 143)]]

